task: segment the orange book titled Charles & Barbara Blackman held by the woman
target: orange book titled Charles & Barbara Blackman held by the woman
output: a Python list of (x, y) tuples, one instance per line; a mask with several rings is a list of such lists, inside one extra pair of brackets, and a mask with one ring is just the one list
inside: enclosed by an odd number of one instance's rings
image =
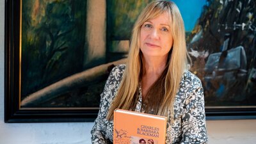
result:
[(135, 111), (114, 111), (114, 144), (164, 144), (166, 137), (165, 116)]

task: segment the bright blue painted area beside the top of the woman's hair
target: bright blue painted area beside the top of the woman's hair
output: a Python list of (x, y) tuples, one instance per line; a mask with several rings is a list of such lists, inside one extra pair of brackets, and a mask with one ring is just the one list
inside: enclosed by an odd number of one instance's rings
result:
[(206, 0), (172, 0), (179, 7), (186, 31), (192, 31), (202, 13)]

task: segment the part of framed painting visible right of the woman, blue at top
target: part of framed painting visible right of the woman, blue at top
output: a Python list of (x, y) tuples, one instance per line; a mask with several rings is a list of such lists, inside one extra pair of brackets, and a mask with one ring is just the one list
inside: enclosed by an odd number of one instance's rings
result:
[(184, 18), (190, 70), (204, 86), (206, 118), (256, 118), (255, 1), (175, 3)]

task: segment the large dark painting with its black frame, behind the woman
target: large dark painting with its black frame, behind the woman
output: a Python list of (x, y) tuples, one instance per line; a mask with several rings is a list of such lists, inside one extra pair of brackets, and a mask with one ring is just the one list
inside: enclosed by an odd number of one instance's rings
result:
[[(92, 122), (150, 1), (6, 0), (5, 122)], [(174, 2), (207, 119), (256, 118), (255, 2)]]

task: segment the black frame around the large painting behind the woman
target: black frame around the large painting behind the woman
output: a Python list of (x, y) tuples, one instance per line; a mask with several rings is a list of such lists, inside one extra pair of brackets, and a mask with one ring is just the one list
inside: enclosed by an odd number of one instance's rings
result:
[[(4, 122), (93, 122), (99, 108), (20, 109), (20, 1), (5, 1)], [(205, 106), (205, 113), (207, 120), (252, 119), (256, 107)]]

